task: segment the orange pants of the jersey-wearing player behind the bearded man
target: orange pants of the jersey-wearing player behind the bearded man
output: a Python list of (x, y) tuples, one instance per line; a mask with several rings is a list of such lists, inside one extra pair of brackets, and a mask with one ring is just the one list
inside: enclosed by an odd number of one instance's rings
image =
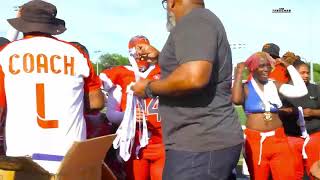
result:
[(128, 180), (162, 180), (162, 171), (165, 162), (163, 144), (148, 144), (140, 150), (137, 159), (134, 148), (129, 161), (126, 163)]

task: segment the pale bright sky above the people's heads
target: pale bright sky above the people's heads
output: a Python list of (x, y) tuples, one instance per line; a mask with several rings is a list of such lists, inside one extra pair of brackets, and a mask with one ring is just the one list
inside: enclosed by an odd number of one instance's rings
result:
[[(66, 21), (67, 31), (57, 36), (78, 41), (89, 49), (94, 61), (103, 53), (127, 56), (128, 40), (137, 34), (147, 36), (162, 49), (168, 36), (166, 12), (161, 0), (48, 0), (58, 8), (58, 17)], [(15, 16), (14, 6), (26, 0), (3, 0), (0, 7), (0, 36)], [(319, 0), (206, 0), (206, 7), (223, 22), (233, 60), (245, 60), (261, 50), (266, 42), (280, 46), (280, 54), (293, 51), (306, 60), (320, 62)], [(273, 9), (291, 13), (272, 13)], [(238, 46), (238, 44), (245, 44)], [(240, 47), (240, 48), (239, 48)]]

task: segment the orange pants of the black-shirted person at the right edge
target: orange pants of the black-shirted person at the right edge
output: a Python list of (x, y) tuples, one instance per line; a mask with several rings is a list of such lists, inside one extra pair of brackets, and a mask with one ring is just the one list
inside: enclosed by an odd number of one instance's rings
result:
[(302, 146), (304, 139), (301, 137), (288, 136), (289, 144), (294, 152), (296, 158), (296, 179), (302, 179), (304, 174), (304, 167), (306, 167), (307, 174), (310, 179), (314, 179), (310, 175), (310, 168), (313, 163), (320, 159), (320, 132), (310, 134), (310, 140), (306, 145), (306, 153), (308, 158), (302, 158)]

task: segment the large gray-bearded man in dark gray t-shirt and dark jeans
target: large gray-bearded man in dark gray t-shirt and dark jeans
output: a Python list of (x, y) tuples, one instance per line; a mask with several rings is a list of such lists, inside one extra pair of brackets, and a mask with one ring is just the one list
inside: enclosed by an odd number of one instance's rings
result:
[(203, 0), (163, 0), (170, 35), (158, 59), (161, 79), (133, 86), (137, 96), (159, 96), (166, 147), (164, 180), (232, 179), (243, 142), (231, 102), (232, 58), (223, 24)]

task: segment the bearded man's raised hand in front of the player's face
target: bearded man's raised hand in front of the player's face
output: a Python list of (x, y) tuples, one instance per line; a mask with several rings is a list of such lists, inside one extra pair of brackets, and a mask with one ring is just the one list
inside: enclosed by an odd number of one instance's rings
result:
[(141, 60), (156, 64), (158, 62), (159, 51), (148, 44), (137, 44), (136, 53)]

